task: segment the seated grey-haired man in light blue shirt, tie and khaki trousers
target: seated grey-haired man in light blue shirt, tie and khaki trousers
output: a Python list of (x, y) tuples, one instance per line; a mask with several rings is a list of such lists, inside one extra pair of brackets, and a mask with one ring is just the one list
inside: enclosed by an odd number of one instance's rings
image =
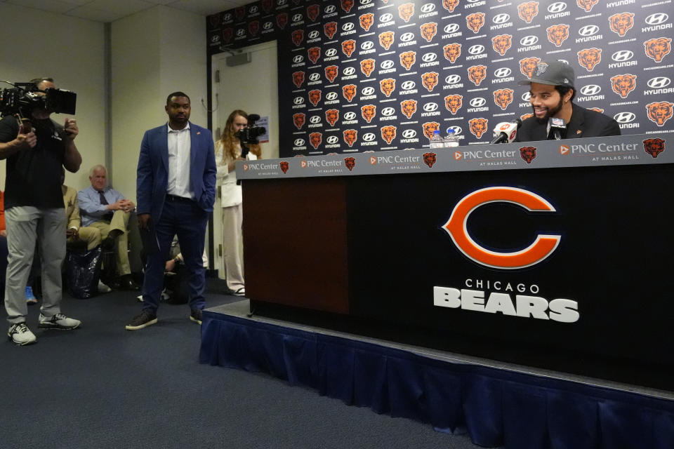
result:
[(138, 290), (138, 284), (131, 277), (128, 263), (128, 214), (136, 208), (115, 189), (107, 187), (107, 170), (104, 166), (93, 166), (89, 171), (91, 187), (77, 193), (82, 225), (95, 227), (100, 231), (103, 248), (114, 248), (117, 242), (117, 273), (119, 288)]

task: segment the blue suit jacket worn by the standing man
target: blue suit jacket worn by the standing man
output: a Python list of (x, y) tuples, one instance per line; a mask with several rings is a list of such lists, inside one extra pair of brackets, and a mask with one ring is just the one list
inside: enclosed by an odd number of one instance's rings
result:
[[(169, 184), (167, 125), (145, 131), (140, 144), (136, 178), (138, 214), (149, 213), (159, 221)], [(190, 187), (199, 207), (211, 212), (216, 201), (216, 156), (211, 131), (190, 122)]]

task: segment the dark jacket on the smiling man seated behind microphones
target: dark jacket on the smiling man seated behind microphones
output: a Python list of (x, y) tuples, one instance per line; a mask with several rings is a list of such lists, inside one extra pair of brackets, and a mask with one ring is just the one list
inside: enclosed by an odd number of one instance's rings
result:
[[(620, 135), (618, 122), (600, 112), (585, 109), (575, 103), (571, 103), (571, 121), (567, 123), (567, 133), (564, 139), (596, 138), (602, 135)], [(530, 117), (522, 121), (522, 126), (517, 130), (515, 142), (530, 142), (532, 140), (548, 139), (548, 123), (538, 123), (536, 117)]]

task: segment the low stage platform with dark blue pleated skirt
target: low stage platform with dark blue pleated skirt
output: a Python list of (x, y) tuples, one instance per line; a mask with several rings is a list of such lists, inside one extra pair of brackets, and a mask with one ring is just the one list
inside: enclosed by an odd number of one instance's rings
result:
[(249, 300), (204, 310), (201, 363), (468, 432), (484, 447), (674, 448), (674, 380), (649, 389), (249, 313)]

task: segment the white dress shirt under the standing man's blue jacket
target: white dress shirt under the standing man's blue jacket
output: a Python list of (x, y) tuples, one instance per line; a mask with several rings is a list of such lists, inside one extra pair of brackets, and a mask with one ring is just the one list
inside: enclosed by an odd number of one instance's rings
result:
[(194, 199), (194, 192), (190, 187), (190, 123), (181, 130), (169, 128), (169, 185), (166, 193)]

